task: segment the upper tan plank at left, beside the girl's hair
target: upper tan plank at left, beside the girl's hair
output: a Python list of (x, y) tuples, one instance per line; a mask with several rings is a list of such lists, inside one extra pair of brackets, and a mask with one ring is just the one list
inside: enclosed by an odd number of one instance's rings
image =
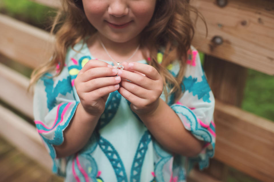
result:
[(51, 57), (53, 37), (39, 28), (0, 14), (0, 53), (35, 68)]

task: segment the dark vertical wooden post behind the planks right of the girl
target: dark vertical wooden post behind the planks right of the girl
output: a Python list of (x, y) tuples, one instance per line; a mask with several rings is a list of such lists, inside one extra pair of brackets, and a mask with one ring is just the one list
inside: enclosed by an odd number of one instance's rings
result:
[[(247, 69), (206, 55), (204, 70), (215, 99), (240, 107), (243, 99)], [(218, 137), (217, 124), (216, 135)], [(216, 145), (218, 145), (217, 142)], [(228, 166), (212, 159), (206, 172), (223, 181), (227, 177)]]

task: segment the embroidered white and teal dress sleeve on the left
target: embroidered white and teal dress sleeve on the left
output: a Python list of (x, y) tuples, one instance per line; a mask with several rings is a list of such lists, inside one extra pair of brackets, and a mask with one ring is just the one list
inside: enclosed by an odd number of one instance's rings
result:
[[(47, 151), (53, 159), (53, 172), (65, 174), (61, 163), (65, 159), (57, 159), (53, 145), (61, 145), (64, 141), (63, 131), (69, 125), (78, 102), (74, 98), (71, 78), (65, 67), (59, 76), (47, 73), (35, 85), (33, 99), (34, 122)], [(61, 167), (62, 166), (62, 167)]]

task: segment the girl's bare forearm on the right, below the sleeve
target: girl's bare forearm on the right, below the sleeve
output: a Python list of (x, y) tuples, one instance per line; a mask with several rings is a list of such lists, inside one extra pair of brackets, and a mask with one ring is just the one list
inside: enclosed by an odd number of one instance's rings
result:
[(171, 152), (195, 156), (203, 142), (185, 129), (178, 115), (162, 100), (150, 115), (138, 115), (154, 138)]

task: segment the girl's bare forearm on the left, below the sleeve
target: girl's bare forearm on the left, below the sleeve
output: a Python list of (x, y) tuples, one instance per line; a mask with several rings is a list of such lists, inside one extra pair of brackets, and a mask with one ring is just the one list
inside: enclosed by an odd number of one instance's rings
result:
[(92, 135), (99, 118), (100, 115), (87, 114), (80, 103), (64, 131), (64, 142), (59, 146), (54, 146), (57, 158), (69, 156), (83, 148)]

